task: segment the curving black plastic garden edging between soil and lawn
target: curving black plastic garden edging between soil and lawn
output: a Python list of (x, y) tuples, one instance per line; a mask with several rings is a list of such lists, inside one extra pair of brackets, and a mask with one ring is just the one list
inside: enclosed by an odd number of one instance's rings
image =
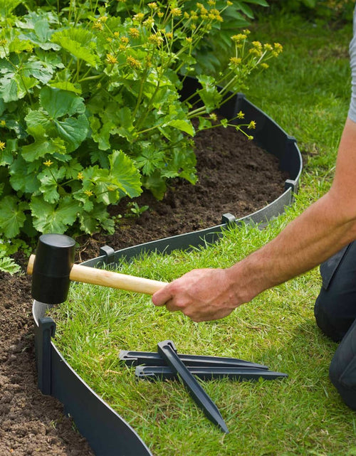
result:
[[(195, 80), (186, 81), (185, 93), (189, 95), (197, 88)], [(298, 191), (302, 159), (295, 138), (290, 137), (281, 127), (246, 100), (244, 95), (236, 95), (221, 108), (220, 114), (227, 118), (236, 112), (244, 112), (246, 123), (256, 121), (254, 141), (266, 152), (275, 155), (280, 168), (288, 173), (289, 179), (281, 196), (264, 208), (243, 218), (236, 219), (231, 214), (222, 216), (221, 225), (135, 245), (116, 252), (105, 246), (100, 256), (85, 261), (83, 265), (100, 267), (103, 264), (115, 265), (122, 259), (132, 260), (142, 253), (159, 252), (169, 254), (175, 249), (187, 250), (194, 246), (204, 246), (221, 238), (224, 229), (231, 223), (262, 223), (283, 213), (286, 206), (293, 203), (293, 194)], [(101, 399), (71, 368), (56, 348), (53, 336), (56, 324), (46, 317), (48, 307), (41, 302), (33, 302), (35, 321), (36, 364), (38, 368), (38, 388), (43, 394), (58, 398), (65, 412), (73, 417), (75, 425), (97, 456), (146, 456), (152, 455), (149, 448), (112, 408)]]

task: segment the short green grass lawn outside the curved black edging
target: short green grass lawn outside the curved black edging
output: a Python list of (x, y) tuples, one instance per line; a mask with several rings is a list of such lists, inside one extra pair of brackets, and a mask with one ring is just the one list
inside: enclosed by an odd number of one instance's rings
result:
[[(253, 38), (283, 54), (251, 79), (249, 100), (295, 136), (305, 168), (295, 205), (259, 230), (229, 230), (204, 250), (150, 255), (120, 272), (169, 281), (194, 267), (226, 267), (273, 238), (330, 186), (350, 98), (351, 24), (330, 30), (298, 17), (261, 17)], [(75, 284), (53, 312), (56, 344), (155, 456), (356, 455), (356, 415), (328, 379), (336, 344), (315, 325), (318, 270), (263, 292), (226, 319), (195, 324), (150, 297)], [(278, 381), (206, 381), (230, 433), (219, 431), (179, 382), (137, 381), (120, 349), (155, 351), (172, 339), (182, 353), (234, 356), (288, 373)]]

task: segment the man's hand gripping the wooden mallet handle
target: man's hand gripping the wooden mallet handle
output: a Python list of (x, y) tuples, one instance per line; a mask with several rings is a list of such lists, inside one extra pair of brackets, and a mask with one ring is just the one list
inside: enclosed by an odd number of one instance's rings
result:
[(221, 319), (239, 304), (234, 282), (224, 269), (196, 269), (155, 292), (152, 302), (170, 312), (180, 310), (194, 322)]

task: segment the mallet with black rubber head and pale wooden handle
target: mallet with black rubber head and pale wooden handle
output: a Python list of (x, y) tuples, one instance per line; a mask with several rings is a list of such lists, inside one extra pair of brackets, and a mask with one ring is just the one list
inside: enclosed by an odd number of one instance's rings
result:
[(153, 295), (166, 282), (74, 264), (75, 240), (63, 234), (43, 234), (27, 272), (32, 274), (32, 297), (46, 304), (66, 301), (70, 280)]

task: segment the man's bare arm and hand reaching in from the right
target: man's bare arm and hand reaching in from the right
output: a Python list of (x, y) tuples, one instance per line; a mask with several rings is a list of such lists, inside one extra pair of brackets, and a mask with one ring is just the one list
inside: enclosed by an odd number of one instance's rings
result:
[(347, 119), (330, 191), (276, 238), (226, 269), (193, 270), (152, 296), (195, 322), (229, 315), (263, 290), (296, 277), (356, 239), (356, 123)]

